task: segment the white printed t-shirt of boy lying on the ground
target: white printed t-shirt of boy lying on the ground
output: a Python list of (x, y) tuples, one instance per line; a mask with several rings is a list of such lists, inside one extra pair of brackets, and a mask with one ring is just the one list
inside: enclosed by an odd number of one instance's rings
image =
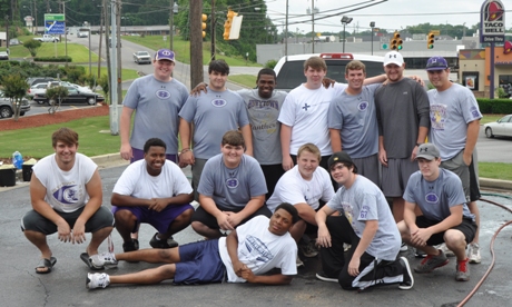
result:
[[(277, 236), (268, 231), (269, 218), (257, 216), (236, 228), (238, 235), (238, 259), (254, 275), (263, 275), (273, 268), (280, 268), (283, 275), (297, 275), (295, 258), (297, 245), (289, 232)], [(218, 239), (218, 250), (226, 266), (229, 283), (245, 283), (233, 269), (232, 258), (227, 252), (226, 237)]]

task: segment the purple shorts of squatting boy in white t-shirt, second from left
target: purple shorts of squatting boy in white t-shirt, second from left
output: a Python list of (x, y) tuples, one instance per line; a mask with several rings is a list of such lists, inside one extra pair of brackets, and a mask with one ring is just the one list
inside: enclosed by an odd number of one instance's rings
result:
[(165, 234), (169, 229), (169, 225), (183, 212), (194, 207), (190, 205), (176, 205), (167, 206), (160, 212), (155, 210), (149, 210), (148, 207), (122, 207), (122, 206), (112, 206), (112, 214), (116, 216), (116, 212), (119, 210), (128, 210), (134, 216), (137, 217), (137, 222), (131, 230), (131, 232), (137, 232), (140, 222), (146, 222), (155, 227), (158, 232)]

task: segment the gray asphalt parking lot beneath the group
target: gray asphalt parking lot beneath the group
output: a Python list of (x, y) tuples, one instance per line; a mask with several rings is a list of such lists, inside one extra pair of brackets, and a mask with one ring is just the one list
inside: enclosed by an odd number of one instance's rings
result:
[[(104, 205), (110, 207), (110, 194), (117, 178), (126, 166), (104, 168), (100, 175), (104, 184)], [(510, 194), (486, 191), (484, 198), (512, 208)], [(0, 190), (0, 241), (2, 244), (1, 273), (3, 286), (0, 289), (2, 306), (457, 306), (479, 283), (491, 265), (489, 250), (494, 231), (512, 219), (512, 214), (485, 201), (479, 201), (481, 209), (482, 264), (471, 265), (471, 280), (455, 281), (455, 261), (429, 275), (414, 274), (415, 285), (411, 290), (397, 286), (371, 288), (364, 293), (344, 291), (337, 284), (315, 278), (319, 259), (306, 259), (305, 268), (289, 286), (262, 286), (247, 284), (217, 284), (204, 286), (174, 286), (170, 281), (152, 286), (111, 286), (107, 289), (87, 290), (88, 267), (79, 255), (85, 245), (62, 244), (57, 236), (49, 237), (53, 256), (58, 261), (49, 275), (38, 275), (35, 267), (39, 252), (20, 231), (20, 218), (31, 208), (27, 184), (12, 189)], [(149, 247), (155, 234), (152, 227), (142, 225), (141, 248)], [(496, 260), (489, 278), (465, 306), (510, 306), (512, 298), (512, 227), (506, 227), (494, 244)], [(90, 238), (90, 236), (88, 237)], [(180, 244), (199, 238), (190, 228), (177, 234)], [(112, 231), (115, 250), (120, 251), (122, 241)], [(100, 250), (106, 250), (104, 244)], [(414, 267), (421, 260), (412, 250), (404, 252)], [(154, 267), (149, 264), (121, 263), (109, 274), (126, 274)]]

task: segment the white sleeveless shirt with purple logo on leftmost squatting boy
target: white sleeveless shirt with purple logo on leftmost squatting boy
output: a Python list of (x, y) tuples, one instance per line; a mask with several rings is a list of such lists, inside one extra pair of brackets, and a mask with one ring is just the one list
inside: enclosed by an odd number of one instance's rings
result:
[(32, 171), (47, 189), (45, 200), (59, 212), (73, 212), (86, 206), (89, 195), (86, 185), (98, 166), (81, 154), (75, 155), (75, 165), (69, 171), (59, 168), (56, 154), (42, 158)]

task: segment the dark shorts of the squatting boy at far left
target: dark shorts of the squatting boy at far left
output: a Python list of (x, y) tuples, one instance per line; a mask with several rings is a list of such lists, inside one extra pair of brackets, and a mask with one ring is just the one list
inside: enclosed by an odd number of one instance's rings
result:
[[(72, 212), (59, 212), (69, 227), (72, 229), (78, 217), (83, 211), (85, 206), (80, 209)], [(86, 232), (96, 232), (106, 227), (114, 226), (114, 216), (104, 206), (101, 206), (86, 222)], [(32, 230), (37, 232), (42, 232), (45, 235), (51, 235), (57, 232), (57, 225), (51, 220), (38, 214), (36, 210), (30, 210), (21, 218), (21, 231)]]

